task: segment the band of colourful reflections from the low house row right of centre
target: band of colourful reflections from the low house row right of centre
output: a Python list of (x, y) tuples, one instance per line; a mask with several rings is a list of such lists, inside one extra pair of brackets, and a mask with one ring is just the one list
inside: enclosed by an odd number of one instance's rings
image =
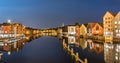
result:
[(103, 53), (104, 45), (102, 43), (94, 42), (91, 39), (78, 38), (75, 36), (64, 37), (65, 42), (69, 45), (74, 44), (76, 47), (80, 47), (83, 50), (88, 49), (90, 52), (95, 52), (97, 54)]

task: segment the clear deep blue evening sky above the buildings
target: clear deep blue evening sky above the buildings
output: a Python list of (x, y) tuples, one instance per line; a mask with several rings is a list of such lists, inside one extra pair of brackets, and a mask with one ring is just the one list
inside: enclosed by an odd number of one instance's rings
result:
[(0, 23), (11, 19), (33, 28), (64, 22), (102, 22), (106, 11), (120, 11), (120, 0), (0, 0)]

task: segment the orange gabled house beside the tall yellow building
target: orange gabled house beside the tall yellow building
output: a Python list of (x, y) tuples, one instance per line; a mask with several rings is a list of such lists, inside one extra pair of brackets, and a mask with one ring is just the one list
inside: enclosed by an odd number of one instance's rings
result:
[(102, 23), (96, 23), (95, 26), (93, 27), (93, 34), (94, 35), (103, 35), (104, 33), (104, 28)]

